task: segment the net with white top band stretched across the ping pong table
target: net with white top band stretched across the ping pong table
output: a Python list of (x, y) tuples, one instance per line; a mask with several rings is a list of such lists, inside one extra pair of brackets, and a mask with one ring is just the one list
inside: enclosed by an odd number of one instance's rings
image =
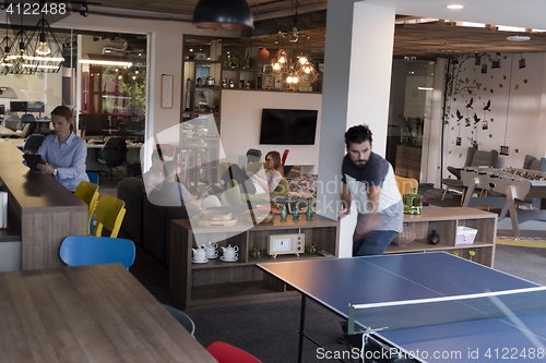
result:
[(546, 288), (460, 297), (349, 304), (348, 334), (397, 330), (546, 312)]

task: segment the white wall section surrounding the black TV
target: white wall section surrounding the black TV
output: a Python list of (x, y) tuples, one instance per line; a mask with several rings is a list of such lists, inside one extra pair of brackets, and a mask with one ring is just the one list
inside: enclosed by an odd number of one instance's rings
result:
[[(318, 172), (321, 94), (282, 93), (263, 90), (222, 90), (221, 135), (226, 159), (246, 155), (249, 148), (261, 149), (263, 155), (270, 150), (283, 154), (288, 148), (290, 153), (287, 165), (314, 166)], [(260, 145), (260, 121), (262, 108), (282, 108), (300, 110), (319, 110), (317, 136), (314, 145)]]

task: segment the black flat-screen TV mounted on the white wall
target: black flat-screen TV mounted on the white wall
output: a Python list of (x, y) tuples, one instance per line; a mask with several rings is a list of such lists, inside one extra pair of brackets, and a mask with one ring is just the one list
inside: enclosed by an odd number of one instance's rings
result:
[(313, 145), (317, 110), (262, 109), (260, 144)]

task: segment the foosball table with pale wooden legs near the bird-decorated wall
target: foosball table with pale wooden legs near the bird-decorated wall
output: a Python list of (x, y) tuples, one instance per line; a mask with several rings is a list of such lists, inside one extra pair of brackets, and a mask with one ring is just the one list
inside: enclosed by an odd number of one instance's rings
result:
[(463, 206), (501, 208), (500, 219), (510, 213), (514, 238), (520, 238), (520, 223), (546, 220), (546, 209), (541, 209), (536, 203), (531, 209), (517, 207), (522, 202), (532, 203), (533, 198), (546, 198), (544, 172), (515, 168), (464, 168), (461, 170), (461, 179), (467, 189)]

